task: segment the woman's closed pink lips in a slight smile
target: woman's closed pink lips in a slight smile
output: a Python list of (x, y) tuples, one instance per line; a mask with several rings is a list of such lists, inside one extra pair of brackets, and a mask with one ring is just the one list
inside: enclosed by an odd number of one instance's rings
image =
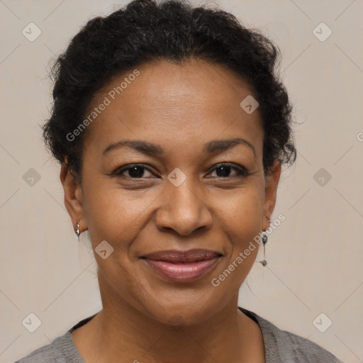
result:
[(169, 281), (190, 282), (206, 275), (221, 254), (211, 250), (167, 250), (143, 256), (144, 261)]

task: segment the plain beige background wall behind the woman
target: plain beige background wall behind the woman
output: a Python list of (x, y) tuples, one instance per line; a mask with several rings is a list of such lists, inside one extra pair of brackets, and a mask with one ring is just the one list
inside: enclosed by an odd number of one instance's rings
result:
[[(1, 362), (48, 344), (101, 308), (94, 267), (86, 268), (86, 235), (79, 248), (59, 167), (38, 125), (49, 115), (52, 57), (87, 19), (126, 2), (0, 1)], [(277, 41), (298, 123), (298, 159), (283, 174), (272, 216), (286, 220), (269, 237), (268, 266), (255, 264), (242, 285), (240, 306), (347, 363), (363, 362), (363, 3), (216, 4)], [(22, 34), (30, 22), (42, 31), (34, 42)], [(313, 34), (321, 22), (333, 30), (324, 42)], [(30, 168), (40, 175), (33, 186), (23, 179)], [(332, 177), (323, 186), (314, 179), (320, 168)], [(22, 325), (29, 313), (41, 320), (34, 333)], [(333, 321), (325, 333), (313, 325), (320, 313)]]

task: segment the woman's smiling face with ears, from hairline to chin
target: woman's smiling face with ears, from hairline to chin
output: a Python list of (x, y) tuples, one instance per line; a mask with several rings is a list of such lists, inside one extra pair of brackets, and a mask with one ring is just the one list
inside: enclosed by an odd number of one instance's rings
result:
[[(202, 60), (138, 72), (92, 101), (82, 186), (62, 165), (66, 206), (89, 230), (104, 308), (123, 301), (163, 323), (203, 322), (237, 302), (259, 246), (238, 256), (268, 227), (281, 168), (264, 179), (262, 120), (240, 106), (253, 94), (235, 74)], [(194, 249), (209, 252), (177, 253)]]

